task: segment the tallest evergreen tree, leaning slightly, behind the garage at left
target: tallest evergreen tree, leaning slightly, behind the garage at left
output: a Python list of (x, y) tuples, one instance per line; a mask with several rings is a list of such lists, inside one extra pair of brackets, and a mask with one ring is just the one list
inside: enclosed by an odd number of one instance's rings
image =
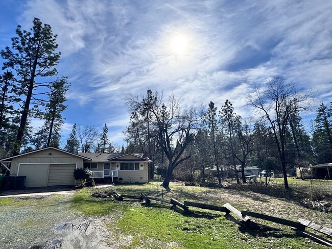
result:
[(55, 52), (58, 48), (57, 36), (52, 33), (51, 26), (49, 24), (42, 26), (41, 21), (34, 18), (33, 28), (29, 32), (22, 31), (21, 26), (18, 26), (16, 35), (12, 38), (11, 48), (7, 46), (1, 51), (1, 56), (5, 60), (4, 66), (8, 67), (15, 77), (15, 93), (22, 101), (14, 155), (20, 151), (29, 116), (39, 115), (40, 106), (45, 105), (43, 96), (48, 90), (42, 92), (42, 89), (51, 88), (55, 82), (61, 80), (37, 82), (40, 78), (54, 77), (58, 74), (56, 65), (60, 53)]

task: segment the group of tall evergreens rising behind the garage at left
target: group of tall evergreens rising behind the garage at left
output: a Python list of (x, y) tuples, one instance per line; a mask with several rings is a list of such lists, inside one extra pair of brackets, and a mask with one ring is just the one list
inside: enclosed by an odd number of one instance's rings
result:
[[(56, 69), (57, 35), (34, 18), (30, 31), (17, 26), (11, 47), (1, 50), (0, 153), (3, 157), (45, 146), (59, 147), (62, 112), (70, 84)], [(35, 130), (32, 120), (40, 119)], [(23, 148), (23, 150), (22, 150)]]

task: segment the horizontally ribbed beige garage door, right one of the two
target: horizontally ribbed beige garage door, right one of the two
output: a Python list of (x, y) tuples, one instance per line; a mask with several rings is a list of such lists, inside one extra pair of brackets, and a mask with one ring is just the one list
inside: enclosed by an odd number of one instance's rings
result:
[(76, 164), (50, 164), (48, 186), (74, 185)]

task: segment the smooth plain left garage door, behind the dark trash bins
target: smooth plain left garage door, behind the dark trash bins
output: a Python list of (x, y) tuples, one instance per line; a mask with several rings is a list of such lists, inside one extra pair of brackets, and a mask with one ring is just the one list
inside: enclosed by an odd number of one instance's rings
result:
[(26, 176), (27, 188), (46, 187), (48, 183), (49, 164), (20, 164), (18, 176)]

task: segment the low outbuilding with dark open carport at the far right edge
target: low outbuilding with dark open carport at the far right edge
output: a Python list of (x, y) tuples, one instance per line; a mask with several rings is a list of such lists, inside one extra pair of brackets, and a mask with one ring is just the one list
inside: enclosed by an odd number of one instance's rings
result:
[(296, 168), (296, 177), (313, 179), (331, 179), (332, 163), (323, 163), (318, 165), (310, 165), (308, 167)]

